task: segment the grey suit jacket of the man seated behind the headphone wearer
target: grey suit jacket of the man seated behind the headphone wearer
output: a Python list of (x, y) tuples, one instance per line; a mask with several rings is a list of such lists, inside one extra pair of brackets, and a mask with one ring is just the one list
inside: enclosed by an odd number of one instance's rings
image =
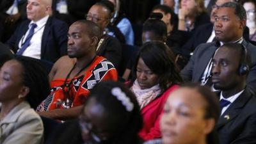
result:
[[(247, 54), (250, 54), (252, 64), (250, 65), (250, 72), (246, 79), (246, 84), (250, 90), (254, 93), (256, 92), (256, 46), (243, 40), (242, 43), (246, 49)], [(214, 52), (219, 47), (216, 42), (211, 42), (207, 44), (201, 44), (196, 47), (191, 56), (188, 64), (180, 72), (180, 75), (184, 81), (200, 82), (202, 75), (204, 74), (205, 68), (207, 67), (209, 61), (213, 57)]]

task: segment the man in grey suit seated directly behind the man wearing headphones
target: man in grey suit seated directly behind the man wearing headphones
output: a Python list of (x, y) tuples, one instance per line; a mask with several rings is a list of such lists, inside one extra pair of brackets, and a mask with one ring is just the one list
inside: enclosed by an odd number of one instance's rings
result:
[(224, 3), (219, 6), (215, 14), (214, 29), (217, 42), (201, 44), (196, 47), (186, 67), (181, 71), (184, 81), (199, 82), (202, 85), (212, 85), (211, 68), (212, 57), (216, 49), (225, 43), (243, 44), (251, 54), (252, 65), (246, 79), (250, 90), (256, 92), (256, 47), (243, 38), (246, 26), (246, 12), (239, 3)]

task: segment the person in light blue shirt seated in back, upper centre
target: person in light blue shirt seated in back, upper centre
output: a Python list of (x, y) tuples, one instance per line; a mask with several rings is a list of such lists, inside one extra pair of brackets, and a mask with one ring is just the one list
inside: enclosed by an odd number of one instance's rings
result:
[[(108, 35), (124, 36), (125, 44), (134, 45), (134, 33), (132, 24), (129, 19), (125, 17), (124, 3), (122, 0), (109, 0), (115, 5), (115, 12), (111, 23), (108, 26)], [(119, 38), (118, 38), (119, 39)]]

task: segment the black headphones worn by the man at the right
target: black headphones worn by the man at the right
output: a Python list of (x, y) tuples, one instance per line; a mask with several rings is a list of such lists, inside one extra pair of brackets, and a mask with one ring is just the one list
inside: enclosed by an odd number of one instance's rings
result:
[(241, 61), (240, 61), (240, 65), (238, 67), (238, 74), (240, 76), (243, 76), (245, 74), (248, 74), (250, 68), (246, 63), (246, 58), (247, 58), (247, 49), (246, 47), (244, 47), (243, 44), (241, 44), (242, 50), (241, 50)]

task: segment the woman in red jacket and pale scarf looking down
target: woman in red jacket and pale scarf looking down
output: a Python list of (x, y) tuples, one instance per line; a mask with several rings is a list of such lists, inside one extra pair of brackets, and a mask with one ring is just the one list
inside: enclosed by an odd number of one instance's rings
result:
[(131, 90), (136, 95), (143, 116), (140, 136), (143, 140), (161, 138), (159, 115), (168, 94), (182, 83), (172, 51), (163, 42), (143, 44), (136, 56), (132, 74)]

